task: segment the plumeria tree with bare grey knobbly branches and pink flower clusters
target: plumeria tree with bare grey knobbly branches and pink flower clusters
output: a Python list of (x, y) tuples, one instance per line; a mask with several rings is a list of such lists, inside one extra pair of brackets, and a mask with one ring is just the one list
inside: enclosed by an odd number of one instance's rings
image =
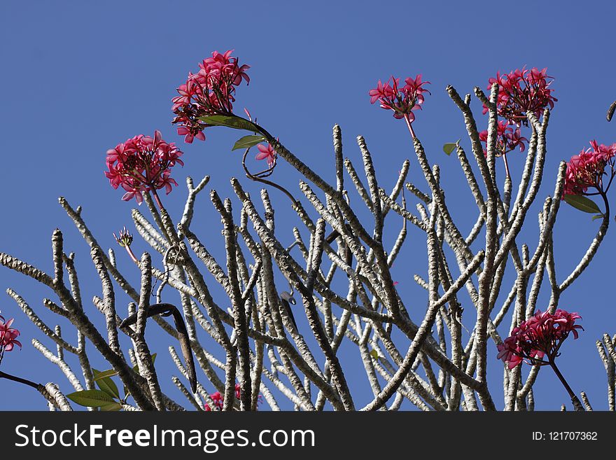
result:
[[(572, 389), (567, 370), (556, 365), (559, 354), (575, 347), (565, 342), (571, 335), (578, 337), (583, 314), (583, 306), (560, 305), (560, 298), (591, 266), (608, 230), (608, 189), (616, 174), (616, 144), (591, 141), (590, 148), (561, 162), (553, 193), (539, 203), (537, 231), (522, 232), (534, 226), (528, 216), (538, 202), (549, 115), (557, 101), (554, 78), (546, 69), (497, 73), (489, 78), (487, 94), (475, 88), (475, 97), (483, 104), (479, 118), (470, 108), (470, 94), (461, 97), (447, 87), (468, 132), (468, 141), (443, 146), (447, 155), (455, 151), (473, 197), (468, 212), (477, 218), (465, 235), (445, 195), (458, 190), (448, 190), (440, 181), (440, 167), (430, 162), (439, 160), (442, 153), (433, 153), (429, 160), (421, 129), (416, 127), (430, 95), (429, 82), (421, 74), (404, 80), (392, 76), (367, 92), (370, 103), (378, 102), (393, 113), (395, 123), (404, 120), (403, 129), (409, 132), (414, 150), (412, 161), (400, 166), (393, 188), (385, 190), (363, 137), (357, 139), (361, 177), (353, 162), (344, 158), (342, 131), (334, 127), (335, 182), (330, 183), (248, 110), (238, 113), (236, 90), (241, 83), (249, 83), (249, 68), (230, 50), (212, 53), (177, 88), (172, 123), (187, 143), (205, 141), (204, 132), (211, 127), (243, 132), (233, 149), (244, 151), (241, 167), (246, 179), (263, 184), (260, 197), (247, 193), (237, 178), (231, 178), (233, 198), (211, 190), (222, 237), (206, 243), (193, 232), (191, 223), (195, 200), (209, 176), (196, 185), (190, 177), (186, 179), (186, 204), (181, 217), (174, 220), (158, 190), (167, 194), (176, 190), (172, 174), (177, 177), (176, 166), (184, 165), (183, 160), (190, 168), (180, 148), (162, 139), (158, 130), (153, 137), (139, 134), (111, 148), (106, 153), (105, 176), (113, 188), (123, 188), (122, 200), (134, 199), (147, 208), (147, 212), (132, 210), (134, 230), (124, 227), (114, 234), (121, 253), (104, 249), (85, 223), (81, 208), (59, 199), (90, 246), (102, 289), (92, 303), (104, 315), (106, 327), (99, 330), (87, 313), (75, 255), (64, 249), (60, 230), (52, 235), (52, 274), (0, 253), (2, 265), (48, 286), (54, 298), (43, 300), (43, 305), (76, 329), (73, 344), (59, 327), (45, 324), (28, 300), (9, 289), (26, 316), (57, 345), (53, 352), (31, 337), (34, 347), (59, 366), (69, 384), (37, 384), (27, 376), (6, 372), (0, 372), (0, 377), (11, 384), (33, 386), (50, 408), (60, 410), (71, 410), (75, 403), (90, 410), (184, 410), (182, 403), (163, 392), (163, 379), (172, 379), (188, 404), (204, 411), (262, 406), (397, 410), (405, 400), (419, 410), (533, 410), (533, 385), (547, 367), (563, 384), (563, 400), (569, 398), (575, 410), (590, 410), (582, 389)], [(611, 113), (613, 109), (608, 120)], [(484, 126), (486, 130), (481, 130)], [(257, 153), (251, 154), (251, 149)], [(521, 154), (507, 160), (507, 154), (516, 150)], [(262, 165), (258, 172), (249, 169), (252, 155)], [(497, 181), (498, 157), (504, 162), (503, 183)], [(295, 169), (299, 191), (276, 181), (281, 161)], [(520, 177), (512, 176), (507, 161), (524, 163)], [(425, 183), (409, 181), (412, 163), (419, 165)], [(215, 169), (212, 165), (212, 174)], [(356, 194), (349, 193), (351, 189)], [(276, 228), (270, 193), (283, 193), (297, 216), (290, 245), (283, 244), (289, 235), (281, 235)], [(600, 204), (594, 196), (601, 197)], [(586, 253), (565, 276), (556, 270), (553, 245), (563, 201), (601, 220)], [(370, 218), (360, 217), (365, 209)], [(391, 270), (402, 246), (409, 244), (409, 225), (424, 235), (412, 244), (425, 247), (427, 253), (424, 274), (414, 275), (426, 292), (421, 299), (400, 295)], [(391, 228), (397, 237), (388, 245), (384, 232)], [(151, 246), (150, 253), (134, 253), (137, 235)], [(523, 242), (522, 235), (535, 235), (536, 240)], [(221, 242), (225, 260), (216, 260), (208, 244)], [(161, 260), (158, 266), (153, 255)], [(118, 257), (132, 260), (133, 270), (140, 273), (139, 286), (120, 272)], [(514, 273), (511, 283), (505, 276), (507, 267)], [(213, 294), (211, 280), (225, 296)], [(549, 293), (544, 304), (538, 300), (542, 290)], [(128, 305), (116, 300), (118, 291), (131, 299)], [(296, 321), (299, 315), (307, 321)], [(169, 316), (172, 321), (165, 319)], [(5, 351), (21, 344), (12, 320), (0, 320), (1, 363)], [(169, 334), (169, 353), (181, 377), (157, 370), (145, 335), (154, 324)], [(311, 337), (304, 338), (307, 335)], [(129, 347), (122, 346), (124, 337), (130, 340)], [(355, 347), (372, 390), (370, 402), (363, 406), (356, 402), (356, 378), (351, 380), (346, 373), (350, 358), (340, 352), (343, 342)], [(616, 337), (607, 333), (597, 342), (611, 410), (616, 408), (615, 345)], [(71, 368), (65, 353), (78, 357), (78, 369)], [(92, 368), (92, 353), (101, 355), (108, 369)], [(523, 373), (525, 364), (530, 367)], [(504, 389), (502, 403), (490, 391), (495, 385), (488, 382), (490, 365), (503, 366), (503, 380), (497, 382)]]

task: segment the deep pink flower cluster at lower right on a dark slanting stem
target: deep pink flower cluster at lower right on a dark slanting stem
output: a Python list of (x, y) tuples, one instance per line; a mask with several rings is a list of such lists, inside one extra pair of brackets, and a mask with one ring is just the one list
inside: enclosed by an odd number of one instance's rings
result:
[[(559, 348), (569, 333), (573, 333), (573, 337), (577, 339), (577, 329), (583, 328), (575, 324), (575, 320), (581, 318), (577, 313), (562, 309), (557, 309), (554, 314), (538, 310), (531, 318), (514, 328), (503, 343), (498, 344), (497, 358), (509, 363), (510, 369), (524, 360), (532, 365), (548, 364), (559, 356)], [(545, 355), (549, 361), (542, 360)]]

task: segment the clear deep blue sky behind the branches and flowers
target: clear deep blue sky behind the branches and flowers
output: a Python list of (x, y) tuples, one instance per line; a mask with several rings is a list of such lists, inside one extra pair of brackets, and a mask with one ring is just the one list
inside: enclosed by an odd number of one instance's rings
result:
[[(385, 80), (391, 74), (402, 78), (423, 74), (432, 83), (432, 95), (426, 97), (414, 127), (430, 161), (440, 163), (454, 217), (461, 219), (466, 229), (475, 221), (475, 204), (456, 158), (447, 157), (441, 148), (456, 139), (463, 139), (467, 151), (470, 147), (461, 115), (444, 88), (451, 84), (465, 94), (476, 85), (485, 88), (487, 79), (498, 70), (547, 67), (555, 78), (552, 88), (559, 101), (550, 120), (545, 178), (538, 196), (542, 202), (552, 193), (559, 161), (568, 160), (591, 139), (604, 144), (616, 141), (616, 126), (605, 120), (605, 111), (616, 99), (615, 13), (608, 1), (585, 1), (582, 6), (570, 1), (2, 1), (0, 134), (6, 162), (2, 168), (0, 251), (50, 272), (50, 236), (55, 228), (63, 230), (65, 250), (77, 254), (85, 308), (102, 326), (101, 315), (90, 302), (92, 295), (100, 295), (101, 288), (89, 262), (89, 250), (57, 204), (57, 197), (66, 197), (74, 207), (83, 206), (83, 217), (99, 242), (116, 247), (111, 233), (123, 225), (132, 227), (130, 209), (136, 204), (120, 201), (120, 190), (109, 186), (103, 174), (105, 152), (128, 137), (151, 135), (155, 129), (185, 152), (186, 166), (173, 174), (180, 186), (165, 197), (173, 216), (183, 207), (186, 175), (198, 180), (210, 174), (208, 188), (216, 188), (223, 197), (232, 196), (229, 178), (242, 176), (240, 154), (230, 152), (239, 137), (237, 132), (211, 129), (207, 141), (186, 145), (170, 123), (175, 88), (214, 50), (235, 49), (241, 63), (252, 66), (251, 84), (237, 91), (235, 106), (239, 111), (248, 107), (269, 132), (326, 179), (334, 177), (332, 125), (341, 125), (345, 155), (356, 162), (359, 153), (354, 138), (362, 134), (386, 188), (395, 181), (402, 161), (414, 158), (414, 152), (404, 123), (371, 106), (367, 91), (379, 78)], [(479, 123), (485, 125), (480, 104), (473, 102), (473, 109)], [(514, 152), (509, 158), (517, 178), (524, 157)], [(500, 162), (498, 167), (502, 180)], [(412, 181), (426, 189), (416, 162), (411, 169)], [(300, 195), (299, 177), (290, 167), (280, 165), (274, 176)], [(248, 190), (258, 191), (254, 184), (242, 181)], [(613, 197), (614, 190), (609, 195)], [(293, 216), (286, 198), (275, 191), (272, 197), (283, 239), (286, 221)], [(239, 209), (237, 201), (235, 207)], [(536, 244), (534, 216), (538, 209), (531, 209), (528, 218), (531, 249)], [(222, 260), (220, 217), (207, 193), (197, 204), (197, 213), (194, 230), (216, 248), (213, 251)], [(399, 223), (391, 224), (390, 239)], [(597, 228), (598, 221), (563, 205), (555, 234), (560, 281), (575, 267)], [(596, 409), (607, 408), (607, 396), (595, 342), (605, 332), (616, 333), (611, 291), (616, 237), (612, 232), (608, 231), (591, 267), (563, 294), (560, 304), (580, 312), (584, 326), (579, 340), (570, 339), (563, 346), (561, 370), (577, 393), (587, 391)], [(289, 243), (292, 238), (288, 232)], [(395, 263), (394, 275), (412, 316), (420, 321), (425, 293), (414, 286), (412, 275), (425, 275), (422, 235), (411, 232), (407, 246)], [(146, 245), (137, 239), (134, 249), (141, 253)], [(119, 259), (123, 256), (118, 252)], [(127, 260), (119, 263), (137, 284), (137, 270)], [(155, 263), (160, 265), (156, 257)], [(0, 287), (4, 291), (9, 286), (54, 324), (41, 304), (42, 298), (52, 295), (50, 291), (2, 268)], [(221, 296), (218, 299), (223, 300)], [(127, 300), (118, 295), (121, 315), (125, 311), (122, 302)], [(541, 309), (547, 307), (546, 302), (542, 296)], [(22, 331), (20, 338), (25, 344), (22, 351), (6, 354), (1, 369), (37, 382), (59, 382), (62, 389), (70, 391), (62, 373), (31, 346), (31, 338), (37, 338), (52, 347), (48, 337), (34, 328), (5, 294), (0, 296), (0, 310), (7, 318), (15, 317), (15, 327)], [(309, 335), (305, 319), (299, 322), (304, 335)], [(503, 324), (501, 335), (507, 335), (507, 327), (508, 323)], [(167, 353), (174, 342), (157, 328), (148, 327), (148, 341), (159, 353), (158, 375), (165, 391), (181, 401), (169, 378), (177, 375)], [(74, 341), (73, 330), (68, 325), (64, 330)], [(492, 342), (489, 346), (494, 348)], [(502, 365), (494, 351), (489, 362), (491, 389), (502, 407)], [(343, 361), (347, 352), (353, 353), (347, 378), (361, 406), (370, 400), (370, 388), (358, 368), (356, 350), (343, 349)], [(98, 359), (93, 361), (94, 367), (105, 365)], [(0, 379), (0, 395), (4, 410), (45, 409), (38, 393), (20, 384)], [(547, 370), (538, 377), (535, 400), (542, 410), (558, 410), (561, 403), (570, 405), (561, 384)]]

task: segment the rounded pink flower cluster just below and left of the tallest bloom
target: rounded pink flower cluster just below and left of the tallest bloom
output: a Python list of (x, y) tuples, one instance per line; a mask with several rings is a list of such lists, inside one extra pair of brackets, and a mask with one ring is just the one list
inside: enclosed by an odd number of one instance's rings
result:
[(113, 188), (122, 186), (126, 190), (123, 200), (134, 197), (141, 204), (143, 193), (165, 188), (169, 194), (172, 184), (178, 185), (171, 178), (171, 168), (176, 163), (184, 165), (181, 155), (173, 142), (162, 140), (160, 131), (155, 131), (153, 138), (139, 134), (107, 151), (109, 171), (105, 176)]

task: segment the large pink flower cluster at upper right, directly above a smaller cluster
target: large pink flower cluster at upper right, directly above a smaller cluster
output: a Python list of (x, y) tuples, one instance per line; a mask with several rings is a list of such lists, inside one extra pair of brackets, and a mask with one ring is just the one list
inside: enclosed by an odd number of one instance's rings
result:
[[(519, 125), (520, 122), (526, 122), (526, 112), (540, 116), (547, 106), (552, 109), (558, 99), (552, 96), (554, 90), (549, 88), (554, 78), (548, 76), (546, 71), (547, 69), (539, 70), (533, 67), (528, 70), (523, 67), (521, 70), (510, 71), (509, 74), (501, 75), (497, 72), (496, 78), (490, 78), (488, 90), (493, 83), (498, 83), (498, 115)], [(487, 111), (488, 108), (484, 106), (483, 113)]]

